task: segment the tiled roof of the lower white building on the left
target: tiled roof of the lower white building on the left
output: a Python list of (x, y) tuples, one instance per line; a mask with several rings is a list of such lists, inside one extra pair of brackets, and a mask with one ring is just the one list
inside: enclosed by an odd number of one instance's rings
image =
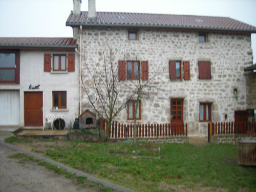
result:
[(75, 49), (76, 40), (67, 37), (0, 37), (0, 48)]

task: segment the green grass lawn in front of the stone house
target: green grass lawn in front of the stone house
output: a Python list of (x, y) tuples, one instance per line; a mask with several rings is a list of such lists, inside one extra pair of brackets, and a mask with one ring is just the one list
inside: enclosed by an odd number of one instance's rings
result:
[(236, 145), (138, 143), (134, 147), (133, 143), (28, 140), (32, 138), (9, 142), (30, 145), (34, 153), (137, 191), (256, 189), (256, 167), (238, 166)]

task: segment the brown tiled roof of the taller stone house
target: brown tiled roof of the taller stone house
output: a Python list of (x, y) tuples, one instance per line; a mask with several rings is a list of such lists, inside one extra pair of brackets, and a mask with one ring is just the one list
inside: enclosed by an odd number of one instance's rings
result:
[(229, 17), (96, 12), (96, 19), (90, 19), (88, 18), (87, 11), (82, 11), (80, 15), (74, 15), (73, 11), (71, 11), (66, 26), (75, 27), (79, 25), (156, 27), (256, 33), (256, 27)]

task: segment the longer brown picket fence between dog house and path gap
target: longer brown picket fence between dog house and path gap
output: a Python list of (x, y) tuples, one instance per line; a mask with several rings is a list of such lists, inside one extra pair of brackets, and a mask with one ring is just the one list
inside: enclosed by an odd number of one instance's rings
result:
[[(107, 130), (107, 129), (106, 129)], [(107, 132), (108, 133), (108, 132)], [(137, 138), (187, 136), (187, 123), (137, 124)], [(133, 124), (112, 122), (109, 138), (133, 138)]]

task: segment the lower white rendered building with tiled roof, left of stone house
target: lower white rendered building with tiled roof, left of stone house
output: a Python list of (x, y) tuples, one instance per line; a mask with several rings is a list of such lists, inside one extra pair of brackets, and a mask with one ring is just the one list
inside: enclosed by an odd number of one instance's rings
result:
[(76, 47), (73, 38), (0, 38), (0, 126), (42, 128), (49, 114), (74, 122)]

